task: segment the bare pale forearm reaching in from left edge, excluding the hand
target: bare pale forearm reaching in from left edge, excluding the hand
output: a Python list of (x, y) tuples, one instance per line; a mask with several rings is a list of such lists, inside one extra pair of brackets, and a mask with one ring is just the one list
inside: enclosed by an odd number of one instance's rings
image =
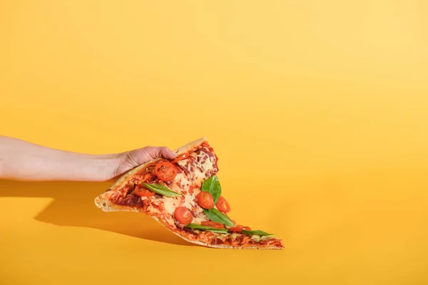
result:
[(54, 150), (0, 136), (0, 179), (106, 181), (118, 155), (86, 155)]

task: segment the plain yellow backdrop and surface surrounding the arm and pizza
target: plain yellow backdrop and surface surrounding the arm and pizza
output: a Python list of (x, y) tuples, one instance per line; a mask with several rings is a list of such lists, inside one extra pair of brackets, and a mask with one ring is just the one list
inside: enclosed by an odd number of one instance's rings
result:
[(109, 183), (0, 181), (0, 284), (427, 284), (428, 2), (2, 1), (0, 133), (112, 153), (206, 136), (234, 219), (195, 247)]

